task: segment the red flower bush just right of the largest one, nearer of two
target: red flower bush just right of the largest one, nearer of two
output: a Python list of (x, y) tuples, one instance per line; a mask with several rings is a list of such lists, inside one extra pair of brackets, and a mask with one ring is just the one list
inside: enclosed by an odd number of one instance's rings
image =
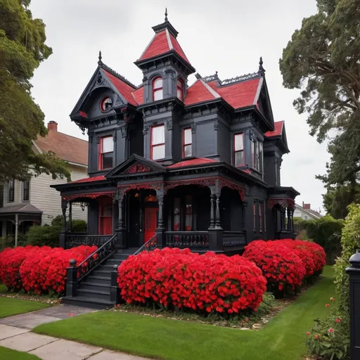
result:
[(302, 261), (281, 241), (252, 241), (243, 256), (262, 269), (268, 290), (276, 296), (287, 295), (302, 284), (306, 273)]

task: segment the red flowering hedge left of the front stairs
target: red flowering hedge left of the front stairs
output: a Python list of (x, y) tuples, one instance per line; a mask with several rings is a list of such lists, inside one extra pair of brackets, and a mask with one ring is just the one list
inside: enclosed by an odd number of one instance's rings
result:
[(77, 264), (91, 255), (96, 246), (79, 246), (69, 250), (49, 246), (26, 246), (0, 252), (0, 281), (9, 290), (32, 291), (36, 294), (63, 293), (66, 268), (70, 259)]

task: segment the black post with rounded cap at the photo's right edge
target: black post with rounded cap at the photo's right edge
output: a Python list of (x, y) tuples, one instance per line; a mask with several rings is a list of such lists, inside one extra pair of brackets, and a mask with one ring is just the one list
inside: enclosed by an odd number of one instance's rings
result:
[(350, 360), (360, 359), (360, 250), (350, 257)]

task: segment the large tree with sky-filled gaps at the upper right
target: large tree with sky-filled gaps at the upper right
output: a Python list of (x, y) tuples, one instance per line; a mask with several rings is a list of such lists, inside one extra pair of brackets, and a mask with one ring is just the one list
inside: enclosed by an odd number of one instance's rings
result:
[(319, 142), (330, 129), (360, 119), (360, 2), (317, 0), (318, 12), (302, 20), (283, 49), (283, 85), (300, 89), (295, 108), (308, 113)]

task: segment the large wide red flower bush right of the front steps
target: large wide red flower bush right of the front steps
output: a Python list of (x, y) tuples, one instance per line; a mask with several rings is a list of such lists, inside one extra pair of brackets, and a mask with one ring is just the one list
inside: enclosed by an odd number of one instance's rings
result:
[(129, 304), (232, 314), (257, 309), (266, 291), (261, 270), (239, 255), (156, 249), (130, 256), (118, 271), (121, 295)]

